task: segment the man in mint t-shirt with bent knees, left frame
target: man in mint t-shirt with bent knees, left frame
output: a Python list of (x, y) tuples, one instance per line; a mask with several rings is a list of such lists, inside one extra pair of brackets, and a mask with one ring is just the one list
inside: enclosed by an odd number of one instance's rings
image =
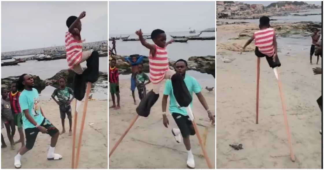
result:
[(61, 155), (54, 153), (55, 145), (59, 137), (59, 130), (45, 118), (44, 112), (41, 109), (38, 91), (33, 86), (34, 79), (29, 74), (22, 74), (19, 77), (17, 88), (18, 90), (23, 90), (19, 96), (19, 105), (22, 110), (22, 123), (26, 134), (26, 145), (20, 148), (18, 154), (15, 156), (15, 168), (21, 168), (21, 156), (33, 148), (38, 132), (47, 133), (52, 137), (47, 159), (62, 159)]

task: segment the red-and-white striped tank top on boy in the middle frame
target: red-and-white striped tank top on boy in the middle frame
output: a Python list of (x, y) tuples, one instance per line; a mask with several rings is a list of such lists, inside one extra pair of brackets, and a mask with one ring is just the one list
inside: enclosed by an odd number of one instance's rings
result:
[(150, 52), (149, 66), (150, 66), (150, 81), (153, 84), (160, 83), (165, 76), (165, 72), (169, 69), (168, 52), (165, 48), (155, 45), (155, 56)]

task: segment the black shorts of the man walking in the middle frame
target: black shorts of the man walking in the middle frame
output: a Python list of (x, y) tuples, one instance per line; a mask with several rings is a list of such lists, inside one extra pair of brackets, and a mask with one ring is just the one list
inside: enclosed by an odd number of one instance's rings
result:
[(193, 128), (192, 122), (189, 116), (183, 116), (179, 113), (172, 113), (173, 119), (176, 121), (177, 126), (180, 129), (183, 138), (189, 135), (195, 135), (195, 129)]

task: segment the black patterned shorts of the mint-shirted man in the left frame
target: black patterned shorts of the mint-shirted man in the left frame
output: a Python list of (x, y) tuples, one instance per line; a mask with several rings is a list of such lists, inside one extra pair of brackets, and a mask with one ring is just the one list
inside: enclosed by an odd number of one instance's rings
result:
[[(44, 118), (44, 120), (41, 122), (40, 126), (46, 128), (47, 132), (48, 132), (47, 134), (49, 134), (51, 137), (53, 137), (59, 131), (46, 118)], [(27, 129), (25, 129), (26, 148), (27, 149), (30, 150), (31, 148), (33, 148), (38, 132), (40, 132), (40, 130), (38, 130), (38, 128), (36, 128), (36, 127), (35, 128), (27, 128)]]

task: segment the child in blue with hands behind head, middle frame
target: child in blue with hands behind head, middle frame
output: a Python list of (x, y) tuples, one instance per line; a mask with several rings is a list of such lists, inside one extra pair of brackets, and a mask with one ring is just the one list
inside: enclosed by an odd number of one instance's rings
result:
[(135, 80), (135, 75), (138, 72), (138, 65), (143, 61), (144, 56), (140, 56), (137, 58), (136, 56), (131, 56), (131, 57), (126, 57), (125, 60), (131, 64), (131, 70), (132, 70), (132, 75), (131, 75), (131, 91), (132, 91), (132, 96), (134, 100), (134, 105), (136, 105), (136, 99), (135, 99), (135, 88), (136, 88), (136, 80)]

